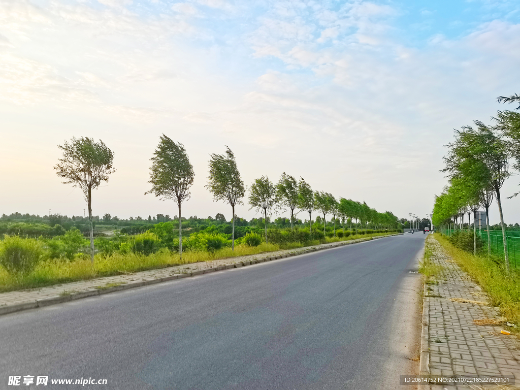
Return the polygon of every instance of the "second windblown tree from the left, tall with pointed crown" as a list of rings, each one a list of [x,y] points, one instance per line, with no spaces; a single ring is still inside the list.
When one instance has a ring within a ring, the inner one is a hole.
[[[183,258],[183,222],[181,219],[181,204],[190,199],[190,187],[193,185],[193,166],[188,159],[186,149],[180,142],[174,142],[164,134],[159,146],[150,159],[150,183],[152,189],[145,192],[153,193],[161,200],[171,199],[177,203],[179,210],[179,256]]]

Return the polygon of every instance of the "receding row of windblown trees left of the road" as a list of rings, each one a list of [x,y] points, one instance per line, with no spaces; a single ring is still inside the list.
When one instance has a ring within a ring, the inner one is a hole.
[[[57,175],[64,184],[80,187],[88,205],[90,230],[91,261],[94,262],[94,236],[92,225],[92,191],[103,181],[108,181],[109,175],[115,172],[113,167],[114,153],[102,142],[92,138],[73,138],[70,142],[59,146],[63,157],[55,166]],[[164,134],[151,158],[150,167],[151,193],[161,200],[173,200],[178,207],[179,218],[179,254],[182,256],[182,225],[181,205],[190,199],[190,188],[193,185],[194,172],[186,149],[180,142],[175,142]],[[210,154],[209,176],[206,188],[213,194],[215,201],[223,201],[232,209],[232,243],[235,248],[235,207],[243,204],[246,187],[237,167],[235,155],[227,147],[224,154]],[[277,184],[272,183],[267,176],[254,181],[250,187],[249,205],[251,209],[262,212],[265,222],[267,241],[268,216],[273,212],[285,209],[291,213],[291,230],[297,212],[309,214],[319,212],[323,215],[324,229],[326,216],[343,218],[343,228],[347,220],[356,220],[362,227],[371,225],[375,228],[396,228],[397,217],[391,212],[379,213],[366,203],[340,198],[337,201],[332,194],[313,191],[303,178],[297,181],[293,176],[283,173]],[[310,229],[312,227],[310,226]],[[335,234],[335,224],[334,224]]]

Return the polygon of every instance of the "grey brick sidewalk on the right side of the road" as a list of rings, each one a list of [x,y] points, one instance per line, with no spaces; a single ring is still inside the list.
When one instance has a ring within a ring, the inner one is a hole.
[[[476,326],[475,319],[499,318],[496,307],[453,302],[450,298],[487,302],[487,296],[471,278],[457,266],[430,235],[432,262],[444,267],[439,284],[425,285],[423,346],[421,367],[431,375],[514,375],[520,381],[520,351],[513,335],[503,335],[502,326]],[[431,290],[428,290],[431,288]],[[430,297],[427,297],[430,295]],[[427,336],[427,342],[425,344]],[[427,359],[427,361],[424,361]],[[516,382],[516,386],[520,382]],[[428,387],[426,387],[428,388]],[[472,385],[432,385],[437,389],[477,389]]]

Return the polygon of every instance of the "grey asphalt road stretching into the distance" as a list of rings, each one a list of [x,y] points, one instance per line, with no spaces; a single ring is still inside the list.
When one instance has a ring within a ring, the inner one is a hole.
[[[2,316],[0,388],[401,388],[423,246],[388,237]],[[50,384],[80,378],[108,384]]]

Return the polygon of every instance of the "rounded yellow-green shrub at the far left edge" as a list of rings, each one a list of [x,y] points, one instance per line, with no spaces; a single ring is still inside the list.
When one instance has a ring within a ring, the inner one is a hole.
[[[30,274],[43,255],[41,242],[33,238],[5,236],[0,242],[0,264],[11,273]]]

